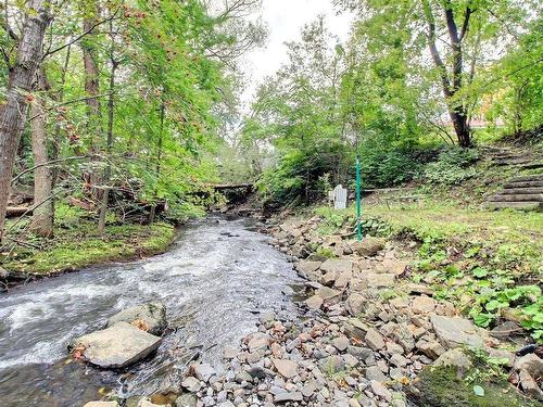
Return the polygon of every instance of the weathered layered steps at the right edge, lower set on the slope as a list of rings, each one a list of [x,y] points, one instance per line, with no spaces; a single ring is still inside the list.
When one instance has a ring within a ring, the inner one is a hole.
[[[543,174],[510,179],[502,191],[488,199],[487,207],[543,212]]]

